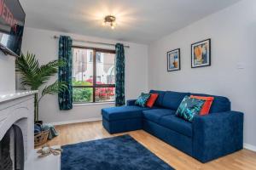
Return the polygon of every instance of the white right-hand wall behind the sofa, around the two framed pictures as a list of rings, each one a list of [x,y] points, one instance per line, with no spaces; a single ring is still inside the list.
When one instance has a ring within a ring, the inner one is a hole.
[[[212,66],[192,69],[190,44],[207,38],[212,38]],[[167,72],[166,52],[175,48],[181,48],[181,71]],[[151,43],[148,51],[148,88],[229,97],[232,110],[245,113],[244,142],[256,146],[255,0],[207,16]]]

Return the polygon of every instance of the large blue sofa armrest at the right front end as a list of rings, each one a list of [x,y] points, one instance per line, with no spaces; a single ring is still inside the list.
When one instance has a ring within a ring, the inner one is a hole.
[[[241,150],[243,145],[243,113],[227,111],[207,116],[195,116],[193,127],[193,156],[211,161]]]

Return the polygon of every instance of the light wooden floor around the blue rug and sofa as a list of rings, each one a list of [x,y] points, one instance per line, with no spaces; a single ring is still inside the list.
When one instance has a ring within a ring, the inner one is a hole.
[[[51,145],[74,144],[82,141],[103,139],[118,136],[125,133],[111,135],[103,127],[102,122],[83,122],[77,124],[62,125],[56,127],[60,133],[58,137],[48,142]],[[134,139],[151,150],[160,159],[166,161],[176,169],[255,169],[256,152],[241,150],[229,156],[224,156],[215,161],[202,164],[194,158],[162,142],[160,139],[146,133],[143,130],[129,132]]]

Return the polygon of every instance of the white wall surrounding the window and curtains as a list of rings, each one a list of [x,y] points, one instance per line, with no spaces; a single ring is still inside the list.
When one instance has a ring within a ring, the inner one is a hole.
[[[53,38],[55,35],[69,35],[74,39],[96,42],[118,42],[98,37],[85,37],[56,31],[26,28],[22,44],[23,53],[29,51],[30,53],[36,54],[41,64],[57,59],[58,40]],[[126,99],[135,99],[142,91],[148,90],[148,46],[132,42],[124,43],[131,47],[125,48],[125,95]],[[73,42],[73,44],[85,45],[87,47],[109,48],[92,44],[79,44],[78,42]],[[113,106],[113,104],[75,105],[71,111],[59,111],[57,97],[46,96],[39,105],[39,119],[44,122],[93,120],[100,118],[101,109],[109,106]]]

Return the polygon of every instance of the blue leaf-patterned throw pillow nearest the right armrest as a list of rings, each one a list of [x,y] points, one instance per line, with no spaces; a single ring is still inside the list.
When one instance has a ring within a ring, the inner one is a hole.
[[[176,116],[179,116],[186,121],[192,122],[194,116],[200,113],[201,107],[204,105],[204,103],[205,100],[185,96],[177,108]]]

